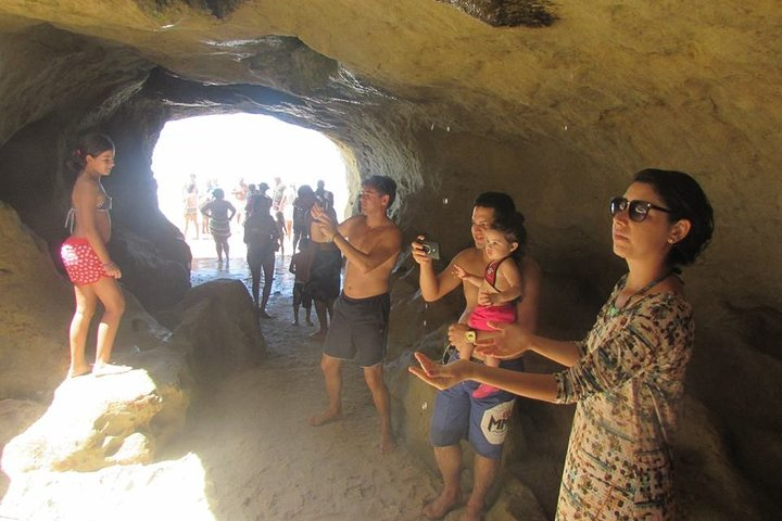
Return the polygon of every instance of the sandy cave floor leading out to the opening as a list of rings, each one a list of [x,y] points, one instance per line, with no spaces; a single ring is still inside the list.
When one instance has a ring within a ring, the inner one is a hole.
[[[239,238],[231,238],[229,268],[217,264],[211,239],[189,242],[193,284],[218,277],[249,283]],[[405,449],[404,440],[394,454],[379,454],[379,419],[358,366],[343,367],[344,418],[307,424],[326,406],[320,343],[307,338],[316,328],[306,326],[303,310],[302,325],[291,326],[289,262],[278,254],[267,307],[273,318],[261,323],[268,358],[201,396],[188,432],[160,456],[198,455],[217,519],[421,519],[421,506],[437,495],[440,480]]]

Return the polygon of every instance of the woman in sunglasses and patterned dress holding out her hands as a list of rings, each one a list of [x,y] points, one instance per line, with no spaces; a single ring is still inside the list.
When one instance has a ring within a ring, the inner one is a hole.
[[[493,325],[476,351],[502,359],[533,351],[566,369],[532,374],[417,353],[411,372],[438,389],[475,380],[520,396],[577,403],[556,518],[673,519],[671,435],[694,342],[679,267],[714,230],[711,206],[680,171],[646,169],[610,201],[614,253],[629,271],[585,339],[562,342]],[[491,326],[491,323],[490,323]]]

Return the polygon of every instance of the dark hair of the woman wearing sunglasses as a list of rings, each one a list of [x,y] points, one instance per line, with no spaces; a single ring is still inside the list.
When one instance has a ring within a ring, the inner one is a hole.
[[[670,266],[688,266],[703,253],[711,241],[714,211],[703,189],[695,179],[676,170],[647,168],[635,174],[635,182],[651,185],[660,196],[670,221],[688,219],[690,232],[673,244],[666,259]]]

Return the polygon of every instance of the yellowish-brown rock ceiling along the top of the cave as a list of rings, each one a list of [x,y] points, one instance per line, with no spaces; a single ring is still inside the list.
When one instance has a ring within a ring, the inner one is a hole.
[[[782,79],[773,1],[3,1],[0,17],[127,46],[189,80],[409,102],[453,130],[564,139],[664,107],[779,136],[772,114],[742,117],[779,116],[765,103]]]

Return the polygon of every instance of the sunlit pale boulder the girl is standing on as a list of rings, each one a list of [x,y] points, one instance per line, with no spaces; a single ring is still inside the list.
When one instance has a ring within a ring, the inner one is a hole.
[[[137,368],[65,380],[43,416],[5,445],[2,470],[14,479],[35,470],[151,462],[157,443],[184,425],[184,355],[161,348],[123,361]]]

